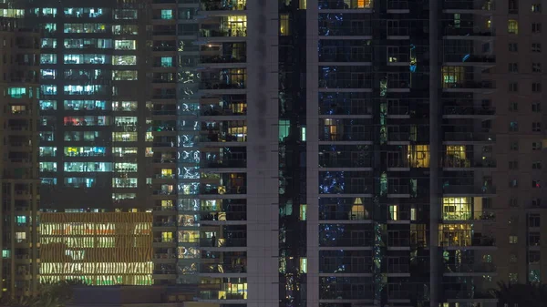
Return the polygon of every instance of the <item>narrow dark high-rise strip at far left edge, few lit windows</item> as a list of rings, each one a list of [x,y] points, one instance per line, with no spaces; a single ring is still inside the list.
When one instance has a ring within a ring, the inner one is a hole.
[[[0,299],[36,292],[39,38],[24,10],[0,10]]]

